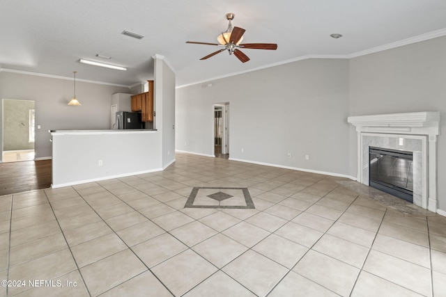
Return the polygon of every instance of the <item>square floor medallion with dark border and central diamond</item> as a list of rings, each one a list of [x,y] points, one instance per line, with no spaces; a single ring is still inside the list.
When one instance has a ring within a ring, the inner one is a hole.
[[[185,208],[255,209],[247,188],[196,186]]]

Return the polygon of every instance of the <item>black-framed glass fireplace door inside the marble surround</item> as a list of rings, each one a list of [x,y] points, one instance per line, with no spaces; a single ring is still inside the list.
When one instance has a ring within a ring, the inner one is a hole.
[[[413,202],[413,153],[370,147],[369,156],[370,186]]]

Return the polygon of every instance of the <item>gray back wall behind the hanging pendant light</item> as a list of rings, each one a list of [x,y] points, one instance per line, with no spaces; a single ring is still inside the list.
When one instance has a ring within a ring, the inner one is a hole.
[[[68,106],[73,95],[72,79],[0,72],[0,99],[33,100],[36,104],[36,127],[41,127],[36,129],[36,159],[52,156],[48,130],[109,129],[112,94],[128,92],[128,88],[77,80],[76,97],[82,106]]]

